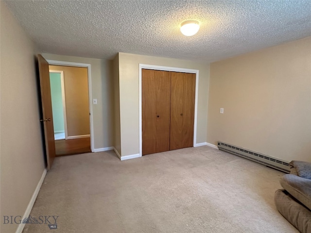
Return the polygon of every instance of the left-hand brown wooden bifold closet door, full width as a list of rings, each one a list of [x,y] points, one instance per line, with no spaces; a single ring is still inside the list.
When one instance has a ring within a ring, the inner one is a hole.
[[[170,150],[171,73],[141,70],[142,155]]]

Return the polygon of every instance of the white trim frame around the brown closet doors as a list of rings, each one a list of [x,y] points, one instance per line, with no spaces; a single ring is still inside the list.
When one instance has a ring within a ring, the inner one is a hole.
[[[193,146],[196,145],[196,126],[197,126],[197,112],[198,112],[198,90],[199,90],[199,70],[198,69],[185,69],[178,67],[163,67],[163,66],[154,66],[139,64],[139,79],[138,79],[138,88],[139,88],[139,157],[142,156],[142,115],[141,115],[141,69],[155,69],[155,70],[164,70],[164,71],[175,71],[182,73],[192,73],[195,74],[195,101],[194,101],[194,131],[193,131]]]

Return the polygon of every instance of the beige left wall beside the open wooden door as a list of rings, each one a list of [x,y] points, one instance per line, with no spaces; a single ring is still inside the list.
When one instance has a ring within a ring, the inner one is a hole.
[[[0,40],[0,216],[3,220],[3,216],[24,215],[45,164],[35,45],[3,1],[0,1]],[[17,230],[17,224],[2,224],[2,220],[0,232]]]

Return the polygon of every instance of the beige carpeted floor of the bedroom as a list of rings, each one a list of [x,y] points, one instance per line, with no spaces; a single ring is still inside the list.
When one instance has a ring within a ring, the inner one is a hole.
[[[113,151],[57,157],[31,212],[59,216],[57,230],[23,232],[297,233],[274,205],[283,174],[207,146],[125,161]]]

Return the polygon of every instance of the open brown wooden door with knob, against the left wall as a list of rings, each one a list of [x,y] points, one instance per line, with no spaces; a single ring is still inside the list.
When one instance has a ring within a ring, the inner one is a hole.
[[[40,119],[40,121],[42,121],[44,126],[43,128],[45,138],[45,149],[49,170],[51,169],[55,158],[50,72],[49,72],[49,63],[40,54],[38,54],[38,63],[39,63],[41,103],[43,113],[43,119]]]

